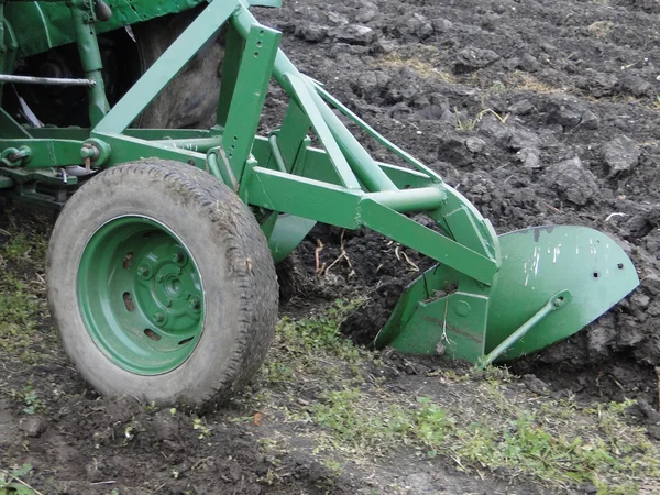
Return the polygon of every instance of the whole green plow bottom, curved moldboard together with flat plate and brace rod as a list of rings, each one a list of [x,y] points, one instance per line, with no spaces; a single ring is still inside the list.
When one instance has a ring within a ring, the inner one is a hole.
[[[566,339],[609,310],[639,278],[624,250],[584,227],[499,237],[492,287],[442,265],[404,292],[376,346],[487,364]]]

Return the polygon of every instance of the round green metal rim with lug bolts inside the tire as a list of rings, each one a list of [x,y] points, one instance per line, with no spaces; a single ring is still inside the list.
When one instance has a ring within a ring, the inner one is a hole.
[[[82,321],[117,365],[141,375],[180,366],[204,329],[204,287],[186,245],[145,217],[116,218],[89,239],[77,278]]]

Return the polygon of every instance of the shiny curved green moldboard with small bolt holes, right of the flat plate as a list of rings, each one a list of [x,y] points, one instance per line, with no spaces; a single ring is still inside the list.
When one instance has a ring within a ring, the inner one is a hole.
[[[502,267],[491,293],[485,352],[561,290],[571,300],[549,312],[499,358],[512,360],[571,337],[639,285],[632,262],[602,232],[537,227],[499,237]]]

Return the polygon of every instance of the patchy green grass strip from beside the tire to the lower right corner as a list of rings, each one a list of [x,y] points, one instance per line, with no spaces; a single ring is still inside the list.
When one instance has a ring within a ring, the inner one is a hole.
[[[284,385],[290,397],[310,384],[320,389],[300,407],[280,403],[279,410],[286,422],[310,429],[315,452],[332,465],[338,454],[360,463],[410,449],[419,458],[441,457],[459,471],[492,471],[559,491],[592,484],[602,495],[637,493],[641,482],[660,475],[660,452],[627,417],[631,402],[587,407],[530,398],[515,376],[497,367],[474,380],[435,372],[460,400],[381,388],[381,381],[364,378],[381,358],[339,334],[355,306],[283,320],[263,373],[267,386]]]

